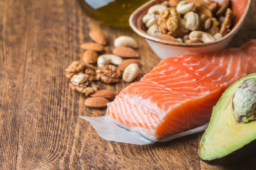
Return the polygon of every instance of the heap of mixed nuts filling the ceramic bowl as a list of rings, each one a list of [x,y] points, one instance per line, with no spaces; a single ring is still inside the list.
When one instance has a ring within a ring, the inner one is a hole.
[[[208,43],[232,28],[230,0],[169,0],[151,6],[142,18],[147,33],[177,43]]]

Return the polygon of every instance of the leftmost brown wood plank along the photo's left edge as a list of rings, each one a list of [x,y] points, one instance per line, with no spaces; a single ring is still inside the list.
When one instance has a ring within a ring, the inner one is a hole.
[[[0,169],[15,169],[26,63],[24,8],[0,1]]]

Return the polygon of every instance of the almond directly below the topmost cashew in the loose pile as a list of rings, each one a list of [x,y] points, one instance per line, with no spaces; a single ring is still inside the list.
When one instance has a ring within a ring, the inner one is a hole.
[[[116,47],[112,52],[120,57],[139,57],[139,54],[135,50],[126,46]]]

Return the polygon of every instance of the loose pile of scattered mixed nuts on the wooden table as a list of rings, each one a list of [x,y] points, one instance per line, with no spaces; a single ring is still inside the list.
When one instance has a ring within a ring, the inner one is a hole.
[[[80,61],[72,62],[65,69],[65,76],[70,79],[69,86],[72,90],[81,92],[85,96],[91,96],[84,104],[92,108],[104,108],[109,101],[115,99],[116,92],[111,90],[99,90],[99,85],[93,81],[104,83],[118,83],[120,78],[131,82],[140,74],[140,60],[135,58],[138,43],[129,36],[120,36],[115,39],[113,54],[102,54],[107,40],[100,31],[90,31],[90,38],[95,41],[81,44],[85,50]],[[126,60],[123,60],[122,57]],[[94,64],[94,65],[93,65]],[[97,64],[97,66],[95,66]]]

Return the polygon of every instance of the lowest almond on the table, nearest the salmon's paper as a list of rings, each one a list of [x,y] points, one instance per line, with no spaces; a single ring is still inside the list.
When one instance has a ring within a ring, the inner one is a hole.
[[[90,97],[84,101],[85,106],[90,108],[104,108],[109,101],[103,97]]]

